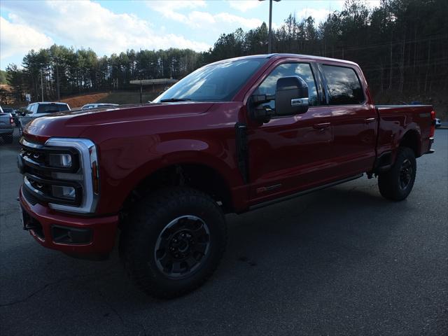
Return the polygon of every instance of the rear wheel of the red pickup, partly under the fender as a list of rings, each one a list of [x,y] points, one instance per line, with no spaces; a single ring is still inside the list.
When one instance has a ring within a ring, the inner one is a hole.
[[[398,148],[391,169],[378,176],[379,193],[388,200],[401,201],[411,193],[416,174],[416,160],[411,148]]]

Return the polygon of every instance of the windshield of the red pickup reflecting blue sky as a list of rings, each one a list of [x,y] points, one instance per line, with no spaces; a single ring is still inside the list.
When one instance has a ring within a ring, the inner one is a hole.
[[[229,102],[265,58],[239,59],[203,66],[160,94],[153,102],[193,100]]]

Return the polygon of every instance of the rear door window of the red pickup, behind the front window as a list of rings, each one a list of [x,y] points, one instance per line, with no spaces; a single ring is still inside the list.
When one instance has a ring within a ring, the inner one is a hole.
[[[353,69],[323,65],[322,71],[327,80],[330,105],[351,105],[364,102],[363,87]]]

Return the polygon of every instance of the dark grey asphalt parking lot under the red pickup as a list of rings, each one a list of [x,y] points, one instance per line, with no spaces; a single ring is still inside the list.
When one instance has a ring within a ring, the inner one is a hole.
[[[76,260],[23,231],[17,141],[0,144],[0,333],[447,335],[448,130],[433,148],[404,202],[363,177],[228,216],[214,276],[160,301],[134,288],[117,251]]]

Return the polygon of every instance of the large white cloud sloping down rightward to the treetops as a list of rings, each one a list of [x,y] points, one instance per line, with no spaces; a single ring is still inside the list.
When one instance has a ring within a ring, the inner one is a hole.
[[[182,3],[179,5],[190,6]],[[66,41],[66,44],[75,48],[92,48],[99,54],[121,52],[131,48],[157,50],[173,47],[202,51],[210,47],[207,43],[191,41],[180,35],[158,34],[150,22],[141,20],[137,15],[113,13],[100,3],[91,1],[30,1],[27,6],[23,6],[23,3],[16,5],[15,2],[8,2],[6,7],[11,13],[15,13],[10,17],[11,24],[25,27],[28,31],[44,32],[54,39]],[[3,27],[1,30],[3,40]],[[33,39],[45,41],[42,37]],[[41,43],[41,46],[46,45],[48,43]],[[30,48],[31,45],[28,45],[26,50]],[[6,52],[13,50],[6,48]]]

